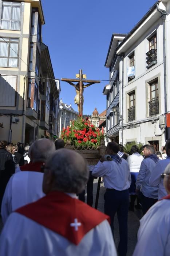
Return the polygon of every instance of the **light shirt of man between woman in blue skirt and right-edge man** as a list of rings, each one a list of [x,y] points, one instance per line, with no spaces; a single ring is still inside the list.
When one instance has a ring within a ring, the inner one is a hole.
[[[141,189],[144,196],[155,199],[158,198],[158,185],[151,187],[149,179],[156,165],[157,163],[155,163],[151,158],[143,159],[136,182],[136,188],[138,190]]]

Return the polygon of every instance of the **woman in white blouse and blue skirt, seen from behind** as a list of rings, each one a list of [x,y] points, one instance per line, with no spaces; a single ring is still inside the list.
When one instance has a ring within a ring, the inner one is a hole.
[[[136,145],[131,147],[130,153],[131,154],[127,158],[127,162],[130,168],[131,180],[132,180],[129,188],[129,195],[130,195],[129,210],[134,211],[135,199],[137,197],[135,194],[135,190],[136,190],[135,183],[137,181],[137,176],[141,167],[141,163],[143,161],[143,157],[142,155],[139,154],[139,148]],[[141,209],[138,198],[137,198],[137,205],[135,206],[135,208]]]

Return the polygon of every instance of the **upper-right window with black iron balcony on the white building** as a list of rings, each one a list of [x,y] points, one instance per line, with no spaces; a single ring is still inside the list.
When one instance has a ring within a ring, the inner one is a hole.
[[[149,41],[149,52],[146,53],[147,68],[157,64],[157,34],[148,38]]]

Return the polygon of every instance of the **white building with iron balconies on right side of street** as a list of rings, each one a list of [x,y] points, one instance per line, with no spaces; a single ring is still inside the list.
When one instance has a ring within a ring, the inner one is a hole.
[[[122,144],[137,140],[161,150],[170,137],[166,125],[170,112],[170,79],[166,76],[170,69],[168,13],[170,0],[162,0],[153,5],[129,34],[122,36],[123,40],[118,40],[118,34],[112,35],[105,66],[110,68],[112,76],[119,70],[119,100],[114,98],[113,102],[109,98],[115,77],[103,94],[107,95],[107,133],[112,129],[116,135],[116,128]],[[116,110],[113,106],[118,106],[116,115],[110,112]],[[119,120],[117,126],[110,124],[110,113]]]

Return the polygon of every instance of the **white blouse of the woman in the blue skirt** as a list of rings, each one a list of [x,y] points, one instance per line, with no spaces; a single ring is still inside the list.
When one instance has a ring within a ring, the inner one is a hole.
[[[144,158],[142,157],[142,155],[129,155],[129,157],[127,158],[127,162],[129,164],[130,172],[138,173],[143,159]]]

